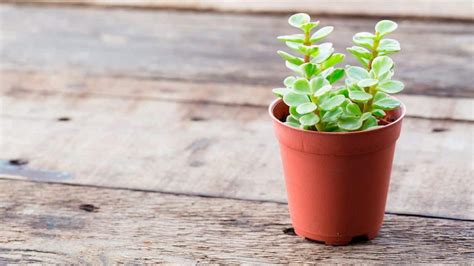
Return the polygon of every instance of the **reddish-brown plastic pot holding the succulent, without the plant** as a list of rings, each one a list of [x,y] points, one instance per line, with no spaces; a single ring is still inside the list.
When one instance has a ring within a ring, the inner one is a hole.
[[[328,245],[373,239],[382,226],[395,143],[405,107],[389,113],[383,128],[330,133],[285,125],[288,106],[269,108],[285,173],[297,235]]]

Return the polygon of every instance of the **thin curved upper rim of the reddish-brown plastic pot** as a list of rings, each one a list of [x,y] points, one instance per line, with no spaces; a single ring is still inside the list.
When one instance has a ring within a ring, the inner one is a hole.
[[[393,96],[390,96],[392,98],[395,98],[397,99],[396,97],[393,97]],[[398,99],[397,99],[398,100]],[[400,101],[400,100],[398,100]],[[400,116],[397,118],[397,120],[393,121],[392,123],[388,124],[388,125],[385,125],[381,128],[377,128],[377,129],[372,129],[372,130],[363,130],[363,131],[353,131],[353,132],[325,132],[325,131],[313,131],[313,130],[305,130],[305,129],[301,129],[301,128],[296,128],[296,127],[292,127],[292,126],[288,126],[286,125],[285,123],[281,122],[278,118],[275,117],[275,115],[273,114],[273,110],[275,109],[275,106],[277,106],[277,104],[279,104],[280,102],[283,102],[283,99],[281,98],[277,98],[275,100],[273,100],[272,103],[270,103],[270,106],[268,107],[268,112],[270,114],[270,117],[273,119],[273,121],[279,123],[280,125],[286,127],[286,128],[289,128],[291,130],[295,130],[295,131],[299,131],[299,132],[304,132],[304,133],[308,133],[308,134],[316,134],[316,135],[332,135],[332,136],[340,136],[340,135],[356,135],[356,134],[366,134],[368,132],[377,132],[377,131],[380,131],[380,130],[386,130],[392,126],[394,126],[395,124],[398,124],[400,121],[402,121],[402,119],[405,117],[405,114],[406,114],[406,107],[405,107],[405,104],[403,104],[403,102],[400,101],[400,107],[401,108],[401,111],[402,113],[400,114]]]

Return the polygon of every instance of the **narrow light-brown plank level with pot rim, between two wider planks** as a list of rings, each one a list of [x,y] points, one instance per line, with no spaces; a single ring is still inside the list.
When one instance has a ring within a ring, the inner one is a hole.
[[[87,76],[81,72],[0,71],[0,92],[61,91],[68,94],[100,94],[150,100],[209,102],[223,105],[266,107],[274,99],[270,87],[248,84],[187,82],[133,78],[127,76]],[[251,97],[250,97],[251,95]],[[397,95],[407,106],[407,115],[427,119],[474,121],[473,98]]]

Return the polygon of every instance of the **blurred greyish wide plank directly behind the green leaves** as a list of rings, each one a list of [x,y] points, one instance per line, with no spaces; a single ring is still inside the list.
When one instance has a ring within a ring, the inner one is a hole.
[[[279,86],[289,71],[276,36],[286,15],[243,15],[71,7],[0,6],[1,69],[81,70],[191,82]],[[324,17],[338,51],[376,19]],[[81,23],[77,23],[81,21]],[[406,93],[474,97],[474,27],[399,19],[394,56]],[[355,63],[352,58],[347,63]],[[447,74],[449,73],[449,74]]]

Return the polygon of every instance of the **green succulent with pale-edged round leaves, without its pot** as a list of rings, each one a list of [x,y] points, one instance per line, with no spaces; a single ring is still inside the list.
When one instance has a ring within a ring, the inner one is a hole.
[[[332,26],[312,33],[319,21],[312,22],[304,13],[292,15],[288,22],[302,33],[278,37],[300,54],[278,51],[295,73],[284,79],[284,88],[273,89],[289,106],[285,123],[326,132],[370,130],[383,125],[386,111],[400,106],[390,94],[404,87],[402,82],[392,80],[394,63],[388,57],[400,51],[398,41],[386,38],[397,29],[397,24],[382,20],[375,25],[375,33],[355,34],[355,46],[347,51],[361,66],[336,68],[344,54],[335,53],[332,43],[321,42],[333,31]],[[337,86],[344,77],[343,84]]]

